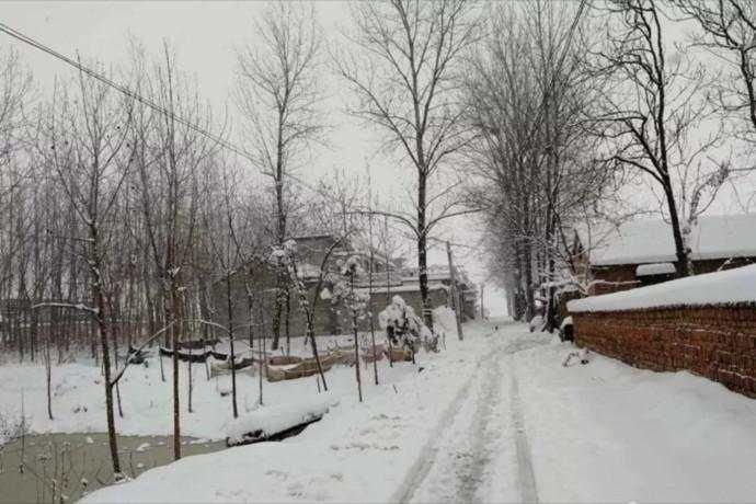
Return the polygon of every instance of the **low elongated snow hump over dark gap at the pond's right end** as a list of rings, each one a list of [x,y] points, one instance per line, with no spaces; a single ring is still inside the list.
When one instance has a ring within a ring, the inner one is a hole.
[[[297,402],[262,406],[226,424],[224,428],[226,439],[231,445],[251,439],[264,439],[297,425],[318,420],[336,404],[339,400],[327,392]]]

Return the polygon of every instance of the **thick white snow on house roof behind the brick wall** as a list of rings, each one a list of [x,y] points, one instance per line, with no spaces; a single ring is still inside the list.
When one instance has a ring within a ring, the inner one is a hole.
[[[669,224],[663,220],[632,220],[594,231],[591,265],[664,263],[676,261]],[[756,214],[699,217],[692,229],[694,260],[756,256]]]

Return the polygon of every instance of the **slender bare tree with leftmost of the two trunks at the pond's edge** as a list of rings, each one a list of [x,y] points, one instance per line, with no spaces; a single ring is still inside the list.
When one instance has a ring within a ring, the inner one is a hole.
[[[45,142],[41,146],[57,174],[64,194],[76,210],[84,230],[83,237],[61,237],[70,247],[82,250],[89,266],[90,296],[93,306],[75,308],[89,313],[95,321],[104,370],[107,435],[116,479],[122,478],[113,411],[111,341],[113,328],[108,319],[107,298],[113,279],[110,277],[110,240],[116,195],[129,167],[127,138],[133,103],[105,84],[85,77],[78,79],[76,100],[64,92],[43,124]],[[64,305],[65,306],[65,305]]]

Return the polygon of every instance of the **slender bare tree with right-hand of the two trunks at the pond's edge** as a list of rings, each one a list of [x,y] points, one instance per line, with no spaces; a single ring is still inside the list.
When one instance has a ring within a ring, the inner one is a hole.
[[[144,56],[135,55],[135,72]],[[181,457],[179,398],[179,343],[182,340],[184,297],[192,250],[195,245],[198,185],[197,171],[211,153],[206,137],[187,124],[209,125],[209,110],[201,105],[196,88],[175,68],[168,45],[162,61],[156,61],[138,83],[165,111],[139,116],[134,128],[140,210],[146,247],[162,294],[164,324],[170,327],[173,350],[173,454]],[[181,117],[183,121],[176,121]],[[203,118],[201,121],[201,117]]]

